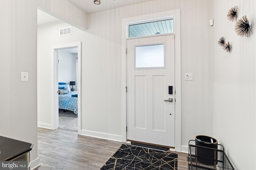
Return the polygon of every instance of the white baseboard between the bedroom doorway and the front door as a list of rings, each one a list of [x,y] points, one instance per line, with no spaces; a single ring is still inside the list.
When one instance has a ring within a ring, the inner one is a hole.
[[[109,133],[81,130],[81,135],[97,137],[97,138],[101,138],[101,139],[108,139],[111,141],[120,141],[120,142],[122,141],[121,135],[113,135],[113,134],[109,134]]]

